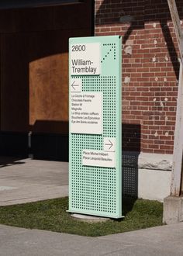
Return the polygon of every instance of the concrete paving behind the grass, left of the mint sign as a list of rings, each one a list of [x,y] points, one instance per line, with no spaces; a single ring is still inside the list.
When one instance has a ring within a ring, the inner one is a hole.
[[[0,157],[0,206],[68,195],[68,163]]]

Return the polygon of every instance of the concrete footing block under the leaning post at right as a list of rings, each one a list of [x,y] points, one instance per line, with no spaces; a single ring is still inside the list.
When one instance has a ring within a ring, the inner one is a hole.
[[[164,199],[164,218],[166,224],[183,221],[183,197],[167,196]]]

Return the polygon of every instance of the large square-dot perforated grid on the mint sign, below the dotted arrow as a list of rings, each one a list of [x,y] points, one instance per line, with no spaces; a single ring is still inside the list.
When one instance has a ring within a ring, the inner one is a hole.
[[[103,137],[116,137],[116,77],[80,77],[83,92],[103,92],[103,134],[71,134],[72,146],[72,207],[116,212],[115,168],[82,166],[84,149],[102,150]],[[110,101],[110,108],[109,108]],[[77,147],[75,147],[77,145]]]

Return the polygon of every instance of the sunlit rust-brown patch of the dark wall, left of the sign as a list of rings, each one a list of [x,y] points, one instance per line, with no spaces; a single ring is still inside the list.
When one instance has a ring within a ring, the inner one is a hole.
[[[29,64],[29,124],[68,121],[67,53]],[[51,129],[51,127],[50,127]]]

